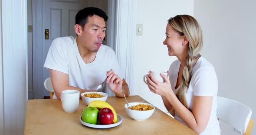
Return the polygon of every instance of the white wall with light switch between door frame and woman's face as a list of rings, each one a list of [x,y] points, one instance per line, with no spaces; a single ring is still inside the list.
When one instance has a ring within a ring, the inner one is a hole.
[[[167,20],[177,14],[193,15],[193,7],[194,0],[137,1],[136,23],[143,24],[143,35],[135,39],[133,95],[141,96],[164,112],[167,110],[161,96],[152,93],[142,77],[149,70],[169,70],[177,58],[169,57],[167,47],[163,45]]]

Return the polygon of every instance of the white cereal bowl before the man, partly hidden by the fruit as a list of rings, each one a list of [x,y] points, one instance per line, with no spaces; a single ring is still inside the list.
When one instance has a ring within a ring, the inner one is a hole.
[[[88,96],[93,96],[93,97],[87,97],[84,96],[85,94],[87,94]],[[100,94],[103,97],[95,97],[95,94]],[[85,92],[81,94],[82,100],[85,102],[86,105],[89,105],[89,103],[91,103],[94,100],[101,100],[101,101],[106,101],[108,98],[108,94],[107,93],[103,93],[103,92],[96,92],[96,91],[92,91],[92,92]]]

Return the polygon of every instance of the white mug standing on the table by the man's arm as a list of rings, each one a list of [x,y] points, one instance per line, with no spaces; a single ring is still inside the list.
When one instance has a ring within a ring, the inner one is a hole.
[[[79,106],[80,92],[78,90],[63,90],[60,95],[62,108],[67,113],[74,113]]]

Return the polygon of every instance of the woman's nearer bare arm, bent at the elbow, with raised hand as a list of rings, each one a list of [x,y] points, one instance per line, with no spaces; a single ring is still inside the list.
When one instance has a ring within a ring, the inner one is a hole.
[[[168,78],[163,74],[161,76],[164,78],[164,83],[160,83],[149,73],[149,76],[147,76],[149,89],[153,93],[164,96],[190,129],[197,133],[203,132],[210,118],[213,96],[194,96],[193,111],[190,112],[174,94]],[[165,105],[171,108],[167,102],[165,102]]]

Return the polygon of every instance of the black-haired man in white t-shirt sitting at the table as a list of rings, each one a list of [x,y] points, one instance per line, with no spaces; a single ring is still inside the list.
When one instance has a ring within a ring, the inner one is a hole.
[[[63,90],[96,91],[106,77],[115,96],[130,94],[115,52],[102,45],[107,20],[108,16],[101,9],[84,8],[75,16],[77,38],[69,36],[53,40],[44,67],[49,69],[58,99]]]

